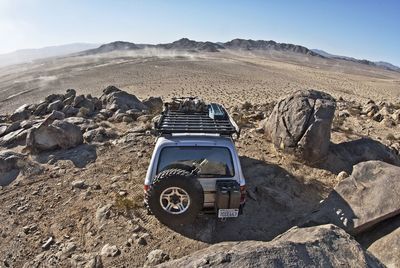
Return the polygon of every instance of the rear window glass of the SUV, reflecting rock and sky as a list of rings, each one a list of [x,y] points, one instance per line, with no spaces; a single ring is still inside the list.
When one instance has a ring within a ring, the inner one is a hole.
[[[231,153],[224,147],[166,147],[161,151],[157,174],[171,168],[195,172],[200,177],[234,176]]]

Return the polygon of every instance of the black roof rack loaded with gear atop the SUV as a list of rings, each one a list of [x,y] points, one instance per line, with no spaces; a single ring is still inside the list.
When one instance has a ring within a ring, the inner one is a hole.
[[[225,108],[217,103],[205,104],[194,97],[175,98],[166,103],[155,130],[159,135],[175,133],[219,134],[239,138],[240,129]]]

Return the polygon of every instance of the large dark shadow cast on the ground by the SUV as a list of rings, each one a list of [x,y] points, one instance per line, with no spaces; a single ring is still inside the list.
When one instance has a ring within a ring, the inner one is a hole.
[[[297,225],[321,200],[318,186],[306,185],[278,165],[241,157],[247,183],[247,202],[238,218],[220,221],[215,214],[199,216],[194,224],[169,226],[207,243],[271,240]]]

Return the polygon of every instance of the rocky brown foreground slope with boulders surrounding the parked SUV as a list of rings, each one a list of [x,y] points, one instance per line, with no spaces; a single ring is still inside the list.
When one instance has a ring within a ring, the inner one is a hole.
[[[162,106],[109,86],[1,115],[0,265],[400,265],[400,136],[389,135],[398,104],[300,90],[227,107],[242,127],[244,214],[188,226],[164,226],[143,207]],[[376,139],[363,134],[372,128]]]

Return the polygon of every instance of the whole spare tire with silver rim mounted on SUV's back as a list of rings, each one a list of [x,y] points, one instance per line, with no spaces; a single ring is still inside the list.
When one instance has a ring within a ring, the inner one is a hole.
[[[203,208],[203,187],[190,172],[168,169],[160,172],[146,194],[149,211],[166,225],[191,223]]]

